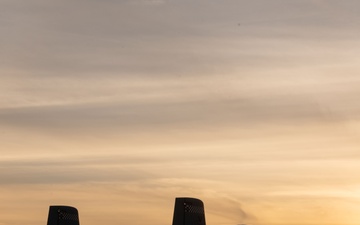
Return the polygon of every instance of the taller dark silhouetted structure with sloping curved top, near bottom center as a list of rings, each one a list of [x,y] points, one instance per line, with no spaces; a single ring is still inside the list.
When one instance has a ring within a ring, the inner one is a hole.
[[[172,225],[206,225],[203,202],[196,198],[176,198]]]

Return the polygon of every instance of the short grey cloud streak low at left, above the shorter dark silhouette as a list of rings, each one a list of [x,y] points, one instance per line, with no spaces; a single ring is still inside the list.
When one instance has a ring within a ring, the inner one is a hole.
[[[73,156],[69,156],[73,157]],[[0,185],[66,184],[84,182],[133,182],[153,179],[151,173],[129,166],[130,162],[109,165],[109,162],[89,163],[54,159],[0,162]]]

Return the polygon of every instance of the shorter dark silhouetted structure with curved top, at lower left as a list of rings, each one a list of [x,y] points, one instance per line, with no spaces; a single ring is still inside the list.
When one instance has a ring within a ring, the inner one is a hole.
[[[47,225],[80,225],[79,213],[71,206],[50,206]]]

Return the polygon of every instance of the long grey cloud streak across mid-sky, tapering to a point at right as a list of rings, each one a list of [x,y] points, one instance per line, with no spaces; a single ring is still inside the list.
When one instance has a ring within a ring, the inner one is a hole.
[[[165,104],[70,105],[4,109],[0,112],[0,123],[46,129],[98,129],[98,127],[142,129],[177,124],[277,123],[294,119],[318,120],[327,117],[329,115],[324,114],[317,105],[312,105],[311,102],[285,98],[282,101],[239,99],[222,102],[190,101]]]

